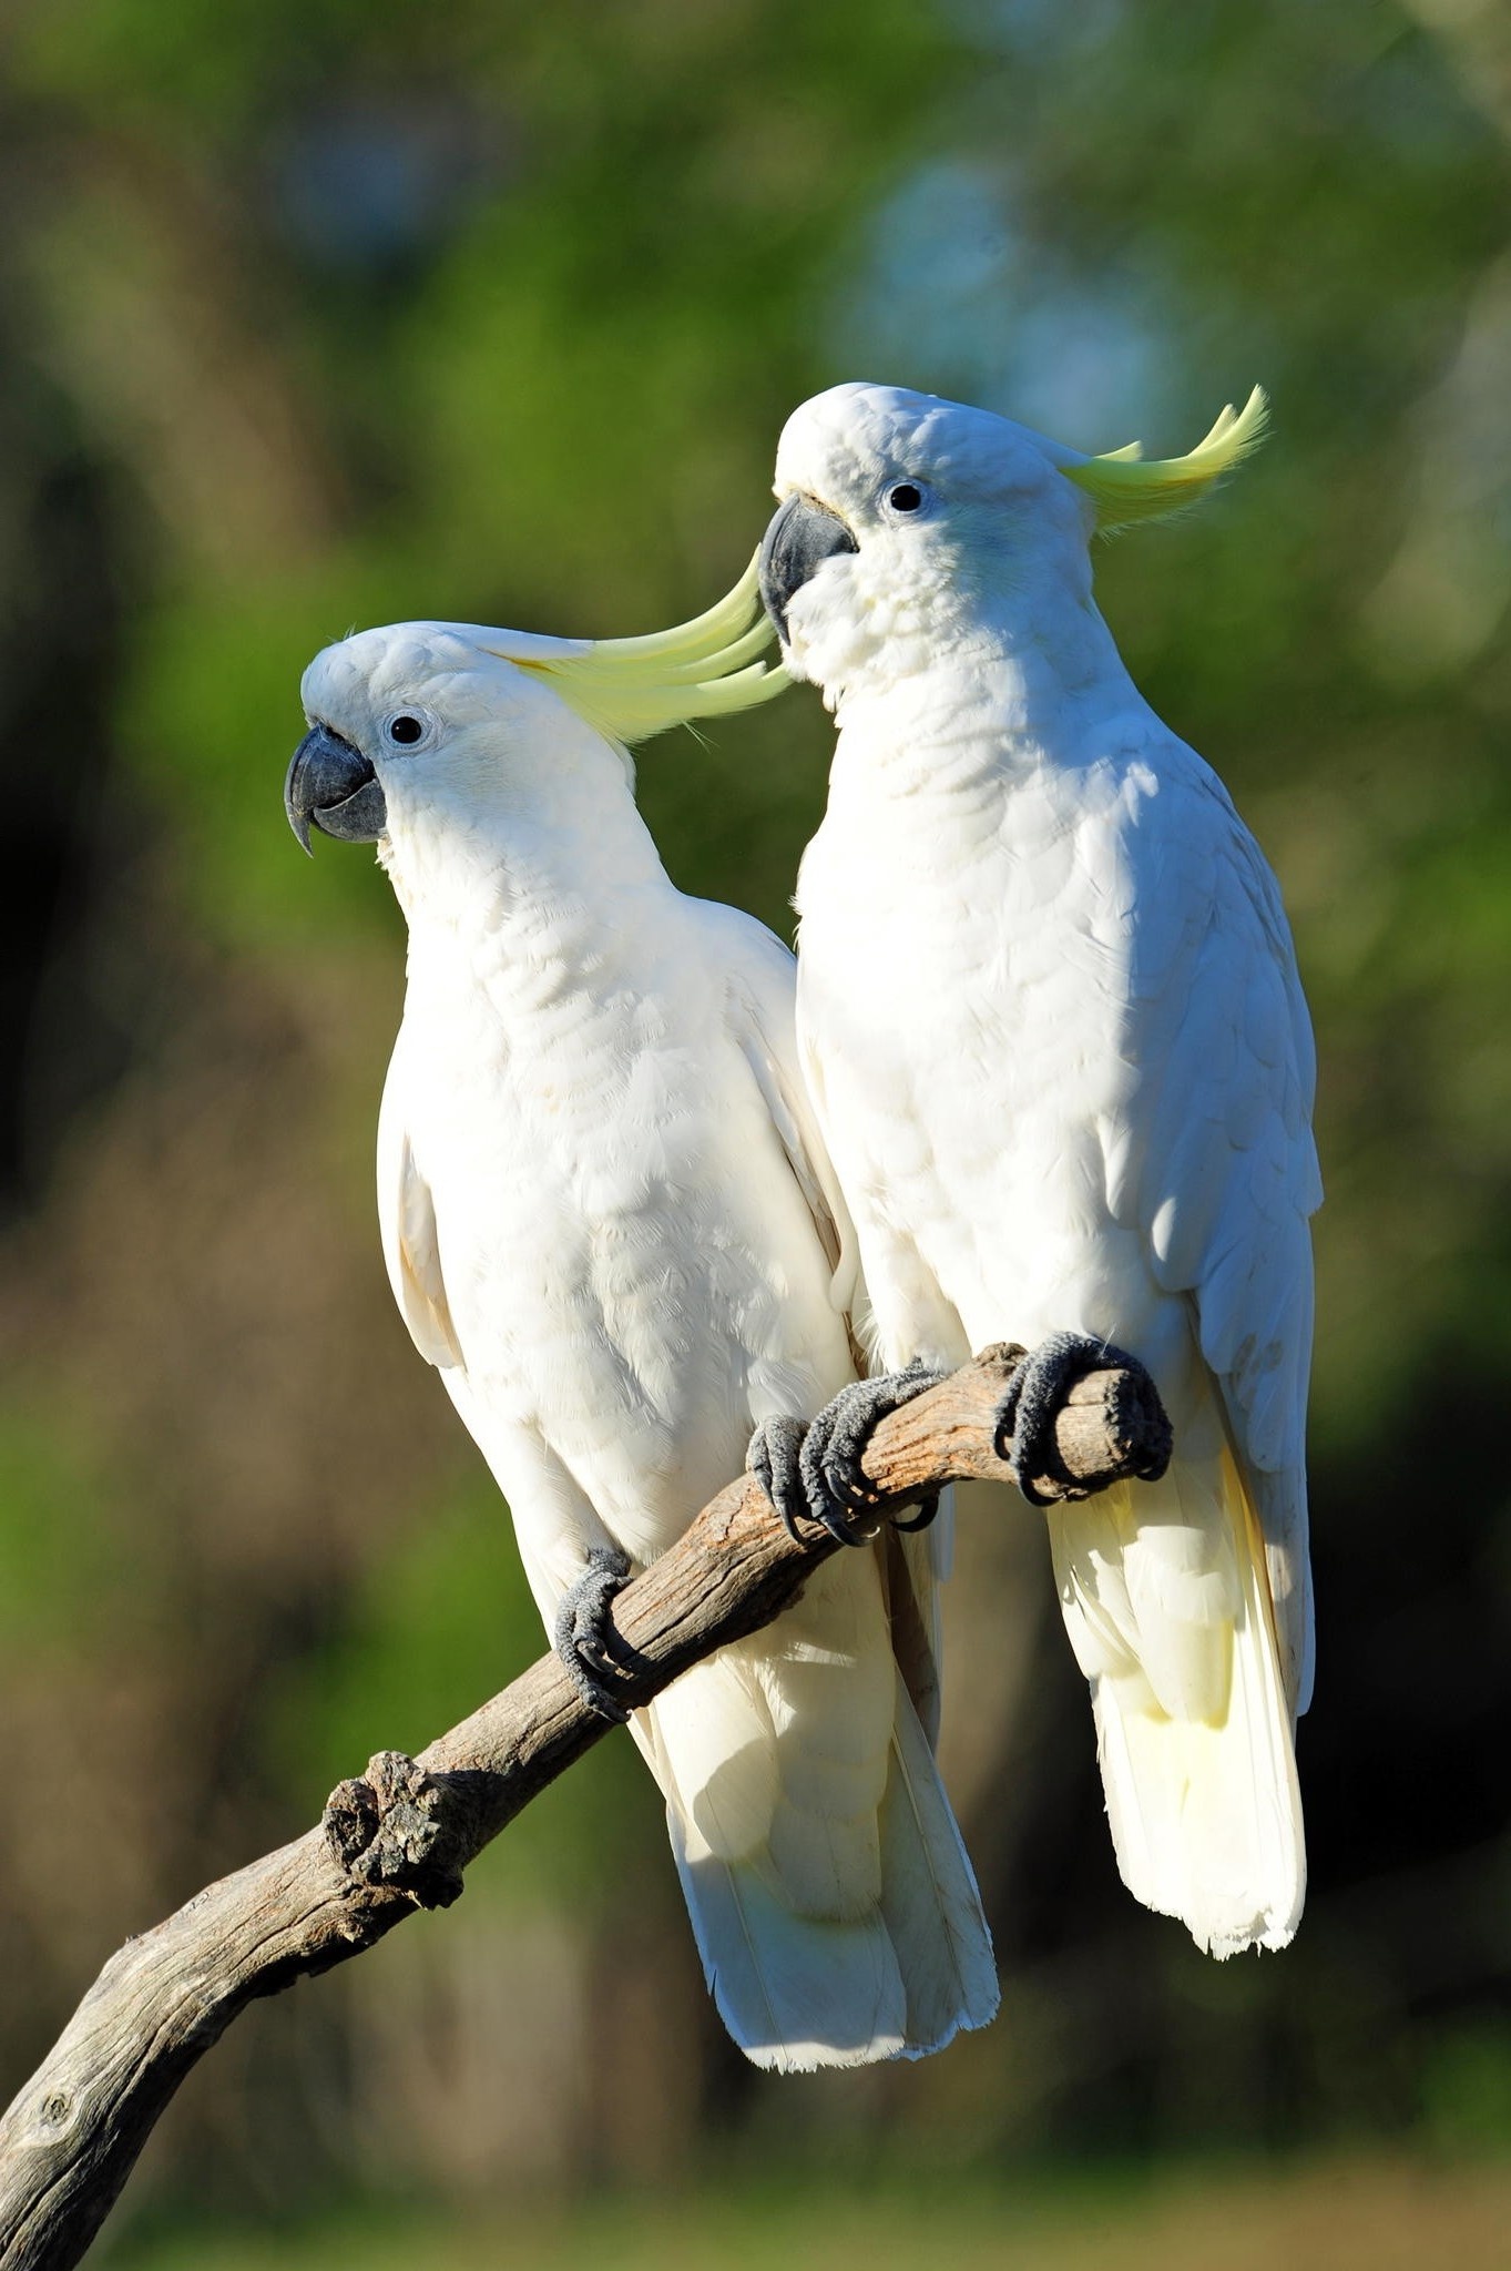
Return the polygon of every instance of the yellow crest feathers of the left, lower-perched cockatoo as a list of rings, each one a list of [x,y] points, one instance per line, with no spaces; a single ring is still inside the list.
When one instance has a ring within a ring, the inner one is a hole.
[[[760,604],[758,559],[692,622],[642,638],[594,638],[576,654],[520,661],[608,740],[647,740],[694,718],[726,718],[780,695],[792,679],[756,656],[776,631]]]

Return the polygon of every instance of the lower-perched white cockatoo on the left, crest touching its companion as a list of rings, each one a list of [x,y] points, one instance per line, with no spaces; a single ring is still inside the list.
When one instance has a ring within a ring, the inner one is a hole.
[[[379,845],[408,920],[388,1276],[510,1503],[547,1631],[619,1719],[613,1592],[740,1472],[753,1426],[853,1378],[792,956],[672,888],[626,754],[785,684],[751,661],[769,636],[753,570],[644,640],[363,631],[304,677],[286,788],[306,849],[311,822]],[[760,2067],[919,2055],[996,2010],[921,1724],[919,1547],[826,1562],[633,1717],[710,1989]]]

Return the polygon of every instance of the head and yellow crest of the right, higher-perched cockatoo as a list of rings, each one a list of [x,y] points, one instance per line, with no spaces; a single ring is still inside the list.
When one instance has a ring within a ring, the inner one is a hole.
[[[1066,450],[991,411],[849,384],[787,420],[758,561],[783,661],[826,693],[903,677],[982,609],[1084,604],[1089,540],[1196,502],[1264,431],[1264,393],[1187,456]]]

